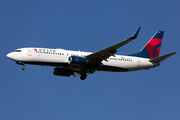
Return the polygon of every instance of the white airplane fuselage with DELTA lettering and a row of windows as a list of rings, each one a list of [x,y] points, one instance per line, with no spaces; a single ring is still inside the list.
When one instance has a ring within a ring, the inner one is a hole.
[[[13,61],[24,62],[25,64],[47,65],[55,67],[73,67],[73,69],[81,69],[78,66],[72,66],[68,63],[70,56],[86,57],[91,52],[71,51],[64,49],[49,48],[21,48],[7,55]],[[103,60],[102,65],[97,70],[102,71],[135,71],[141,69],[149,69],[157,66],[149,61],[150,59],[115,55]]]

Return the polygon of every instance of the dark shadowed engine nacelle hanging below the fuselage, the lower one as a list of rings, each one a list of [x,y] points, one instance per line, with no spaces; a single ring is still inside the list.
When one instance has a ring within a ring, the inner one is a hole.
[[[54,75],[64,76],[64,77],[69,77],[73,74],[73,72],[70,69],[66,69],[66,68],[54,68],[53,73]]]

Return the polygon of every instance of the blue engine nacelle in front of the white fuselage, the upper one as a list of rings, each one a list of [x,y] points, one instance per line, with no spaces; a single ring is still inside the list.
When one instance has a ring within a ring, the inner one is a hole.
[[[84,57],[70,56],[68,59],[69,64],[86,64],[87,60]]]

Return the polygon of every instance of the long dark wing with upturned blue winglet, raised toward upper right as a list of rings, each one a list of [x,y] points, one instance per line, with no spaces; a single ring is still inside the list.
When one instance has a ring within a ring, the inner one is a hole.
[[[98,66],[99,64],[101,64],[102,60],[107,61],[107,58],[109,58],[110,56],[114,56],[118,48],[134,40],[138,36],[139,30],[140,30],[140,27],[135,31],[135,33],[130,38],[124,41],[121,41],[117,44],[114,44],[110,47],[107,47],[105,49],[102,49],[100,51],[97,51],[95,53],[92,53],[86,56],[86,59],[88,59],[89,61],[93,62],[94,64]]]

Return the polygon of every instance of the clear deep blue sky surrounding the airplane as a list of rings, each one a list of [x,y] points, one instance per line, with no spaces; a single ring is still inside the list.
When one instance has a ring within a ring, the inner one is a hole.
[[[130,37],[117,54],[138,52],[165,31],[160,55],[180,51],[177,0],[6,0],[0,2],[2,120],[179,120],[179,53],[136,72],[95,72],[85,81],[57,77],[53,67],[20,65],[6,54],[22,47],[95,52]]]

